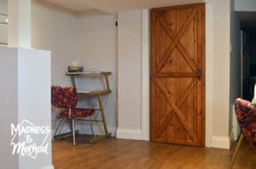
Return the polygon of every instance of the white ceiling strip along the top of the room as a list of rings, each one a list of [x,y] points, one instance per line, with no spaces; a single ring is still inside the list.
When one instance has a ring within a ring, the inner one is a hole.
[[[110,14],[143,8],[158,8],[191,3],[205,3],[206,0],[43,0],[74,12],[99,9]]]

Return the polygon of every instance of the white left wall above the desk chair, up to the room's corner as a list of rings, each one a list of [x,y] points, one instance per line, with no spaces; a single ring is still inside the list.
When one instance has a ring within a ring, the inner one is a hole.
[[[70,85],[67,65],[78,59],[77,19],[74,14],[32,0],[32,48],[51,51],[52,84]]]

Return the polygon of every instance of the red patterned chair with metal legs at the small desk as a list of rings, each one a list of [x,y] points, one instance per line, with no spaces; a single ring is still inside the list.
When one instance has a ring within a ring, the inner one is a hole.
[[[51,103],[56,108],[61,108],[60,113],[60,121],[56,127],[55,134],[58,132],[59,127],[61,125],[61,121],[64,118],[68,118],[72,120],[72,130],[73,130],[73,144],[76,145],[75,142],[75,120],[90,117],[95,114],[94,109],[79,109],[76,108],[78,103],[78,93],[75,87],[51,87]],[[90,121],[90,129],[93,134],[93,128]]]

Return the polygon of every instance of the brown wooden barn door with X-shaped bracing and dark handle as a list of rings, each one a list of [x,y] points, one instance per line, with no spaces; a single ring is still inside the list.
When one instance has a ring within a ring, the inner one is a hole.
[[[150,137],[205,144],[205,5],[151,10]]]

